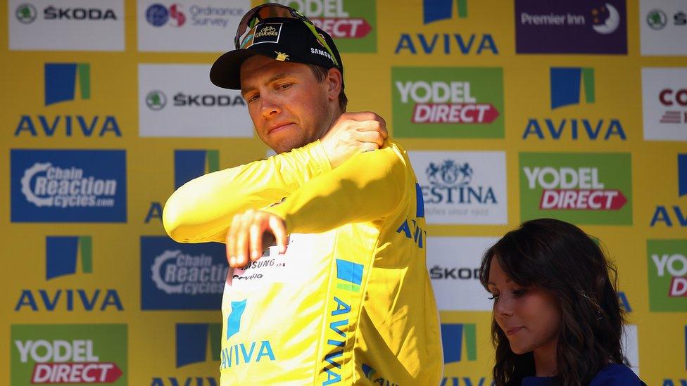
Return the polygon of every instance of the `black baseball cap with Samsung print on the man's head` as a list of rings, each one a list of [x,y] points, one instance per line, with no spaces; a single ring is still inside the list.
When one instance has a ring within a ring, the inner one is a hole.
[[[251,11],[248,11],[249,13]],[[295,10],[294,10],[295,12]],[[304,17],[303,17],[304,18]],[[240,28],[240,27],[239,27]],[[313,28],[324,38],[334,53],[320,42]],[[265,18],[259,20],[240,42],[240,47],[220,56],[210,69],[210,81],[224,89],[241,89],[240,70],[244,60],[260,54],[274,60],[337,68],[343,75],[341,55],[332,37],[320,28],[298,18]]]

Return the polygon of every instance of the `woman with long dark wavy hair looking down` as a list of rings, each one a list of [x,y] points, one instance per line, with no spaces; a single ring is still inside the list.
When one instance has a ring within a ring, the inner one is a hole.
[[[565,221],[527,221],[489,248],[479,279],[494,301],[496,385],[642,385],[623,355],[616,275]]]

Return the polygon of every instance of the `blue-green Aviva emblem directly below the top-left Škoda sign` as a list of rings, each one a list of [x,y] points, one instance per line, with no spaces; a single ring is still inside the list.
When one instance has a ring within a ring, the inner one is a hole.
[[[45,64],[46,106],[73,101],[77,88],[82,100],[91,98],[91,65],[88,63]]]

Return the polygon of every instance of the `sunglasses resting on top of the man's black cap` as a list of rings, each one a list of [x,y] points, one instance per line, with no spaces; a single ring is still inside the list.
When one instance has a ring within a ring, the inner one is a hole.
[[[234,37],[234,45],[236,46],[236,49],[241,49],[242,46],[246,45],[251,39],[250,32],[253,27],[255,27],[258,22],[268,18],[291,18],[301,20],[301,22],[308,27],[308,30],[313,32],[313,35],[315,35],[317,41],[319,41],[320,44],[327,49],[329,55],[332,56],[332,60],[334,60],[334,65],[336,65],[336,67],[341,67],[341,65],[339,65],[339,61],[336,60],[336,56],[334,56],[334,52],[329,48],[327,41],[324,40],[324,37],[322,37],[321,34],[317,33],[317,30],[315,30],[315,25],[313,22],[306,18],[303,13],[296,11],[294,8],[282,6],[282,4],[263,4],[261,6],[256,6],[256,8],[251,9],[251,11],[248,11],[248,13],[244,15],[244,18],[241,19],[241,22],[239,22],[239,28],[237,29],[236,37]]]

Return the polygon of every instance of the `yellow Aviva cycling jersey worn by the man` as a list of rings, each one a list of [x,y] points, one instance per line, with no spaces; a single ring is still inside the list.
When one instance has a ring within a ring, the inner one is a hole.
[[[320,141],[189,181],[165,205],[172,238],[224,242],[262,209],[291,233],[229,271],[220,384],[439,385],[439,314],[422,192],[396,143],[331,169]]]

